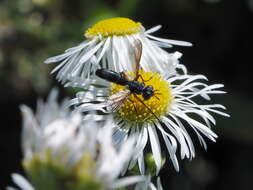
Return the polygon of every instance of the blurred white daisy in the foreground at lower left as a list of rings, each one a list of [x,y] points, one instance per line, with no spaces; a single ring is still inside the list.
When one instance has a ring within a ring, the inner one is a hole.
[[[134,153],[135,139],[119,150],[112,143],[111,121],[101,127],[93,116],[64,111],[56,103],[54,90],[48,102],[38,104],[36,115],[24,105],[23,166],[29,182],[18,174],[14,182],[22,190],[33,189],[115,189],[140,182],[143,176],[118,178]]]

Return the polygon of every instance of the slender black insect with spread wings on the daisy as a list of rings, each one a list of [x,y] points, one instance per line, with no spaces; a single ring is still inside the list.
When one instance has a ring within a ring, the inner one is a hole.
[[[133,94],[134,97],[138,101],[140,101],[155,116],[156,119],[158,119],[158,117],[153,113],[153,111],[137,96],[137,94],[141,95],[144,100],[148,100],[152,96],[155,95],[154,92],[156,90],[154,90],[153,86],[151,86],[151,85],[145,86],[145,84],[144,84],[144,82],[151,80],[151,78],[145,81],[142,78],[142,76],[139,74],[140,59],[141,59],[141,55],[142,55],[142,44],[141,44],[140,40],[134,41],[133,48],[134,48],[134,57],[135,57],[134,79],[130,79],[130,77],[127,74],[125,74],[124,72],[117,73],[115,71],[108,70],[108,69],[98,69],[96,71],[96,75],[102,79],[109,81],[109,82],[112,82],[112,83],[115,83],[118,85],[122,85],[122,86],[126,86],[126,89],[124,89],[116,94],[113,94],[112,96],[109,97],[108,101],[111,102],[111,106],[112,106],[111,111],[112,112],[117,111],[121,107],[121,105],[123,105],[124,102],[129,99],[129,96],[131,94]],[[139,82],[138,81],[139,78],[141,78],[143,82]],[[159,93],[156,93],[156,94],[159,94]],[[156,97],[156,96],[154,96],[154,97]],[[159,99],[158,97],[156,97],[156,98]]]

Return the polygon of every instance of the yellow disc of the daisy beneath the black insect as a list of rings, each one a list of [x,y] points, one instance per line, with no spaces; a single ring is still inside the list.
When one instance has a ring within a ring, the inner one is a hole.
[[[128,76],[133,77],[134,73],[126,73]],[[139,71],[141,77],[138,78],[139,82],[144,82],[145,86],[151,85],[154,88],[154,95],[144,100],[142,95],[131,94],[129,99],[124,102],[121,108],[115,113],[116,117],[129,124],[150,123],[157,121],[157,116],[160,118],[168,113],[170,105],[173,101],[171,94],[170,83],[164,80],[158,73]],[[144,81],[143,81],[144,80]],[[127,87],[112,83],[110,93],[116,94]],[[146,105],[143,105],[138,98]],[[152,110],[152,112],[148,109]],[[155,116],[154,116],[155,115]]]

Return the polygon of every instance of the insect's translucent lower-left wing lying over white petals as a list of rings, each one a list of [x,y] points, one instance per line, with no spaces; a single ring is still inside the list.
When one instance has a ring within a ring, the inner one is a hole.
[[[119,91],[116,94],[111,95],[107,100],[107,111],[116,112],[120,109],[120,107],[125,103],[125,101],[131,95],[130,90],[124,89]]]

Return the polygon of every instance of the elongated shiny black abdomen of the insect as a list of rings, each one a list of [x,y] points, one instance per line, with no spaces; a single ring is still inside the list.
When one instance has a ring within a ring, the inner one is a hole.
[[[96,75],[102,79],[119,85],[126,85],[128,82],[127,79],[122,77],[120,73],[108,69],[98,69],[96,70]]]

